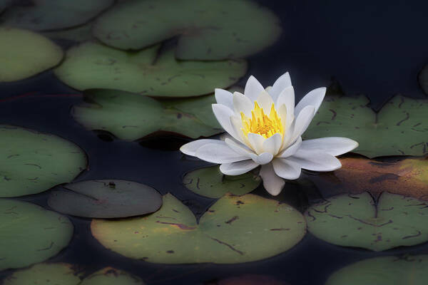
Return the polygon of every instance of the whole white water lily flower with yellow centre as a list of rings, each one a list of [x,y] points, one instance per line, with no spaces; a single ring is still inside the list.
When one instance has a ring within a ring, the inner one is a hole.
[[[261,165],[263,185],[278,195],[286,180],[300,177],[301,169],[337,170],[335,157],[349,152],[358,142],[349,138],[303,140],[326,88],[307,93],[295,106],[290,75],[285,73],[273,86],[263,88],[254,76],[248,78],[244,94],[215,89],[213,112],[228,133],[225,140],[195,140],[180,150],[208,162],[219,163],[225,175],[240,175]]]

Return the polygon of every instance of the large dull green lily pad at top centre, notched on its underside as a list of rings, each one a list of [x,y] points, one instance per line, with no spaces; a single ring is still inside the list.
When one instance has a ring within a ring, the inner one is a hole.
[[[178,36],[176,55],[186,60],[243,58],[270,46],[280,32],[272,11],[244,0],[124,1],[93,30],[108,46],[133,50]]]

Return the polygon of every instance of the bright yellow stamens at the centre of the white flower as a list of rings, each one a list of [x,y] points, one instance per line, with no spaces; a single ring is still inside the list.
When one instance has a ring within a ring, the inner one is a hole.
[[[277,114],[275,105],[272,103],[269,115],[266,115],[263,108],[260,108],[257,101],[254,101],[254,109],[251,111],[251,118],[248,118],[243,112],[240,113],[243,122],[243,133],[248,138],[248,133],[262,135],[263,138],[270,138],[275,133],[284,135],[281,118]]]

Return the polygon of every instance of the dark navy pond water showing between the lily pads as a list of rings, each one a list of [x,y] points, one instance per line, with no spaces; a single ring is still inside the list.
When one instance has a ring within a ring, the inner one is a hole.
[[[332,78],[347,95],[367,95],[374,108],[379,108],[397,93],[424,97],[417,73],[428,63],[428,37],[424,34],[428,2],[381,4],[378,1],[376,5],[372,1],[352,4],[346,1],[259,2],[275,11],[284,29],[274,46],[249,58],[248,75],[253,74],[265,86],[290,71],[297,98],[313,88],[330,86]],[[240,84],[247,78],[245,76]],[[71,106],[82,100],[78,94],[58,81],[51,71],[17,83],[3,83],[0,85],[1,123],[59,135],[82,147],[89,157],[89,169],[76,181],[141,182],[163,194],[172,192],[197,215],[213,204],[213,199],[200,197],[182,184],[185,172],[208,165],[185,159],[177,150],[178,145],[188,140],[176,138],[139,143],[110,140],[106,135],[101,135],[101,139],[71,118]],[[255,192],[266,197],[263,186]],[[48,207],[48,195],[49,191],[17,199]],[[321,197],[322,193],[317,190],[290,184],[277,199],[304,211],[308,202]],[[334,271],[355,261],[428,252],[428,244],[379,253],[337,247],[307,233],[297,246],[263,261],[235,265],[151,264],[106,250],[91,236],[91,219],[70,219],[75,226],[71,244],[49,261],[79,264],[88,271],[113,266],[141,276],[147,284],[203,284],[245,273],[272,275],[291,285],[324,284]],[[0,272],[0,279],[11,272]]]

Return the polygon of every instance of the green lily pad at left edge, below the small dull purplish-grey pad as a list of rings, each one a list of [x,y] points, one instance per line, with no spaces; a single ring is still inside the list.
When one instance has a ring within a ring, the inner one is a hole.
[[[0,199],[0,271],[49,259],[72,235],[67,217],[28,202]]]

